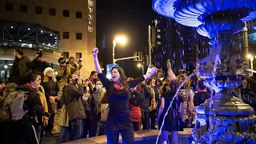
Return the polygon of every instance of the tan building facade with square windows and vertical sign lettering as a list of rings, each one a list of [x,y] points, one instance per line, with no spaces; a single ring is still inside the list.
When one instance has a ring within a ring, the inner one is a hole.
[[[82,77],[89,77],[94,70],[91,50],[96,46],[96,0],[3,0],[0,4],[2,20],[29,22],[58,31],[58,41],[49,45],[62,52],[64,58],[74,57],[77,61],[82,58]],[[50,63],[58,64],[59,54],[49,56],[54,57],[48,58]]]

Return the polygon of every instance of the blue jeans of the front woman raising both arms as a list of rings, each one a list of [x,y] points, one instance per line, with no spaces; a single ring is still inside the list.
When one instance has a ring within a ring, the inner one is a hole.
[[[121,133],[123,144],[134,144],[132,122],[106,122],[107,144],[118,144],[119,133]]]

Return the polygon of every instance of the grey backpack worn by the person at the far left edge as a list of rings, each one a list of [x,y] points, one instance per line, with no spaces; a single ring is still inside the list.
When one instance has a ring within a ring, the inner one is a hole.
[[[18,121],[28,112],[23,110],[25,93],[22,90],[12,90],[7,94],[0,107],[0,120],[3,122]]]

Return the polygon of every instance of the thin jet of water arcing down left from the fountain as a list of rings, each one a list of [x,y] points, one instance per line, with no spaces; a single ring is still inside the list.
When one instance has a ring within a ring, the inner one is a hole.
[[[197,72],[194,72],[193,74],[190,74],[185,80],[184,82],[182,82],[181,86],[178,87],[178,90],[176,91],[175,95],[174,95],[174,98],[171,99],[170,101],[170,106],[168,107],[168,109],[166,110],[166,114],[164,115],[163,119],[162,119],[162,126],[164,125],[165,123],[165,119],[166,119],[166,115],[168,114],[168,111],[170,110],[170,107],[173,105],[173,102],[174,102],[174,99],[177,97],[178,95],[178,91],[181,90],[182,86],[186,83],[186,81],[188,79],[190,79],[191,77],[193,77],[195,74],[198,74],[198,71]],[[159,136],[161,134],[161,131],[162,131],[162,126],[159,130],[159,133],[158,133],[158,138],[157,138],[157,141],[155,142],[155,144],[158,144],[158,139],[159,139]]]

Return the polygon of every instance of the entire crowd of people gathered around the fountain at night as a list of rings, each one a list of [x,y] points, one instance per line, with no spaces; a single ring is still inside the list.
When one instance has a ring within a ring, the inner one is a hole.
[[[187,74],[182,70],[174,74],[170,60],[166,62],[166,78],[155,67],[139,78],[128,78],[121,67],[113,67],[111,79],[108,79],[102,74],[98,63],[98,48],[94,48],[92,53],[95,71],[88,78],[82,78],[82,61],[76,63],[74,57],[68,61],[59,58],[58,74],[55,75],[44,61],[42,52],[35,54],[34,60],[30,61],[21,49],[14,50],[9,81],[0,81],[2,142],[42,142],[43,137],[54,135],[54,117],[59,111],[61,143],[105,134],[111,144],[118,143],[119,134],[122,135],[122,142],[134,143],[134,131],[160,128],[163,115],[167,113],[162,142],[170,143],[168,134],[171,132],[171,141],[177,144],[178,131],[194,126],[196,106],[210,98],[210,90],[204,85],[205,79],[199,74],[186,81],[174,98]],[[233,94],[256,109],[253,79],[244,79],[242,86]],[[14,104],[22,104],[24,111],[10,110],[13,114],[4,114],[6,107],[11,106],[6,105],[11,97],[21,99]],[[167,111],[173,98],[171,109]]]

